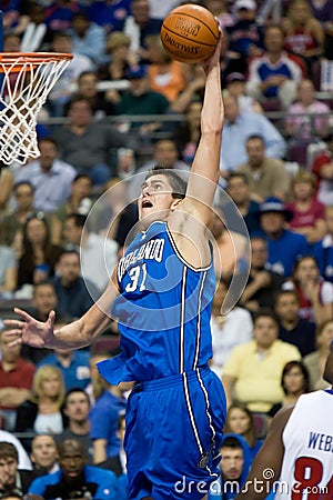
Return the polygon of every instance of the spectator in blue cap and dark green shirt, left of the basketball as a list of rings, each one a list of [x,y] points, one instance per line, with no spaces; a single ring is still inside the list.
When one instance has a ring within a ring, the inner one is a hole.
[[[117,103],[115,114],[150,116],[164,114],[169,111],[170,102],[165,96],[150,88],[145,66],[132,66],[127,73],[127,79],[130,81],[130,87]],[[130,129],[129,122],[127,127]],[[154,132],[160,127],[161,123],[157,121],[135,121],[132,123],[132,129],[142,137]]]

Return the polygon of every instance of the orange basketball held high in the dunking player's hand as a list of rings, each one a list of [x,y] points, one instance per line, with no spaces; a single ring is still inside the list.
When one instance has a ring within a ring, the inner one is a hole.
[[[214,52],[219,36],[214,16],[204,7],[190,3],[169,12],[161,28],[165,52],[176,61],[191,64]]]

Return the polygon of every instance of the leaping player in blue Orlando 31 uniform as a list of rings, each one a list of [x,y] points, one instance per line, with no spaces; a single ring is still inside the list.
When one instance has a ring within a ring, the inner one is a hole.
[[[111,282],[78,321],[53,331],[7,320],[16,343],[50,349],[90,344],[119,320],[122,353],[99,366],[110,383],[135,381],[127,410],[130,499],[202,499],[219,474],[225,397],[209,369],[214,269],[208,224],[219,179],[223,128],[221,41],[201,63],[205,74],[201,140],[188,187],[168,170],[148,174],[139,199],[140,223]]]

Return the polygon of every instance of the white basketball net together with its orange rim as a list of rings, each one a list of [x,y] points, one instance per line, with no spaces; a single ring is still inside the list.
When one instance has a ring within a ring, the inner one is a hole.
[[[40,156],[37,117],[71,54],[0,53],[0,161]]]

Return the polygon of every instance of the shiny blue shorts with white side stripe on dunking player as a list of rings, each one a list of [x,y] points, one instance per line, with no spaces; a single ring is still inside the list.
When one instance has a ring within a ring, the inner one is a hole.
[[[219,476],[225,413],[209,368],[135,386],[124,440],[129,498],[202,499]]]

